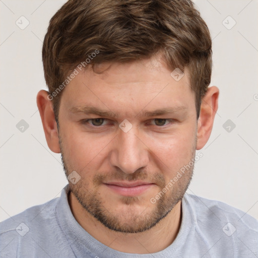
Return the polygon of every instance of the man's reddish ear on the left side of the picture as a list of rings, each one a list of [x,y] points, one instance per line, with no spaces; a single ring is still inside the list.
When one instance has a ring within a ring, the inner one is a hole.
[[[57,124],[54,117],[52,102],[48,98],[49,92],[40,90],[37,94],[37,106],[47,145],[52,152],[60,153]]]

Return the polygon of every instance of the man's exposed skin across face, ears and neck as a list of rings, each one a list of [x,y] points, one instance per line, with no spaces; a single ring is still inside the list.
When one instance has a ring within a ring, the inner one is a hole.
[[[156,203],[150,199],[207,143],[219,90],[208,89],[197,120],[187,68],[178,82],[160,56],[99,65],[100,70],[106,68],[96,74],[89,67],[63,90],[59,130],[49,93],[39,91],[37,105],[46,141],[51,151],[61,153],[67,175],[76,171],[81,176],[76,184],[69,182],[69,204],[78,223],[118,251],[157,252],[169,246],[179,231],[181,199],[193,166]],[[70,111],[85,105],[116,116]],[[142,114],[176,106],[184,108],[150,117]],[[105,119],[86,121],[94,118]],[[124,119],[132,124],[127,133],[119,127]],[[136,196],[123,196],[105,184],[137,180],[152,184]]]

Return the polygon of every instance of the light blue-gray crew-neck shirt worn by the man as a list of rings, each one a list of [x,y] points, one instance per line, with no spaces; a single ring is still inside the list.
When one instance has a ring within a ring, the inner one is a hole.
[[[68,185],[59,198],[1,222],[0,257],[258,257],[258,221],[224,203],[185,193],[174,242],[156,253],[134,254],[114,250],[87,233],[75,220],[67,193]]]

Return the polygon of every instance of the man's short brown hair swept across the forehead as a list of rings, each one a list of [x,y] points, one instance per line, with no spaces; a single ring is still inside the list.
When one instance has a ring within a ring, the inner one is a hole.
[[[52,94],[96,49],[93,67],[162,53],[169,68],[189,69],[199,117],[211,81],[211,47],[209,29],[190,0],[69,0],[49,22],[42,59]],[[56,121],[61,93],[52,98]]]

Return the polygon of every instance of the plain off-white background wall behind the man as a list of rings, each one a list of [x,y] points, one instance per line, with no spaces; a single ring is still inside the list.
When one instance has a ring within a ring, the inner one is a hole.
[[[67,184],[60,154],[47,147],[36,105],[37,92],[46,89],[42,41],[64,2],[0,0],[0,221],[59,196]],[[194,2],[211,31],[211,85],[220,97],[187,191],[258,219],[258,1]],[[22,119],[29,126],[24,132],[17,128]]]

